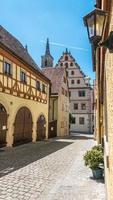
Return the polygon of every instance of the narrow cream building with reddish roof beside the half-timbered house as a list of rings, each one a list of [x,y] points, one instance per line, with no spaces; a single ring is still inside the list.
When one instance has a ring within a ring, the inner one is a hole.
[[[51,80],[49,137],[69,134],[69,92],[65,68],[47,67],[43,73]]]

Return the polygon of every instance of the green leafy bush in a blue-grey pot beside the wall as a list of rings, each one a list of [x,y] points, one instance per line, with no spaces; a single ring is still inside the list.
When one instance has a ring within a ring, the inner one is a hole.
[[[103,148],[101,145],[94,146],[90,151],[84,155],[85,165],[92,169],[93,177],[100,179],[103,177]]]

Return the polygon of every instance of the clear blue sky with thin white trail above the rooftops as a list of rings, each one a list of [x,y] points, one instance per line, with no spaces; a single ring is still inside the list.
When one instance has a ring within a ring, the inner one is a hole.
[[[94,4],[95,0],[0,0],[0,24],[28,45],[39,66],[45,52],[42,41],[49,37],[50,42],[59,44],[50,45],[54,64],[68,47],[85,74],[94,78],[91,46],[82,19]]]

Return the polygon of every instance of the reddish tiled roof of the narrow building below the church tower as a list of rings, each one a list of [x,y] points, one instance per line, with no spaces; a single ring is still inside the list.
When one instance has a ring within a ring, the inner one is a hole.
[[[62,84],[62,78],[65,73],[63,67],[48,67],[42,69],[44,75],[51,80],[51,94],[58,94]]]

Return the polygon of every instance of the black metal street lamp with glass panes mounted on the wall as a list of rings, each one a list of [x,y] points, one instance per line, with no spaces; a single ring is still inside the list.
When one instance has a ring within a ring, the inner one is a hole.
[[[96,48],[103,38],[105,24],[107,21],[107,12],[101,9],[95,9],[83,19],[84,24],[87,27],[89,40],[93,47]]]

